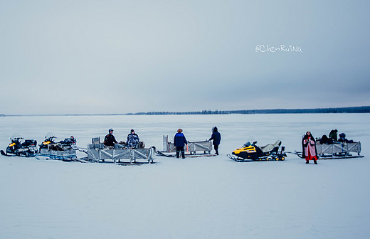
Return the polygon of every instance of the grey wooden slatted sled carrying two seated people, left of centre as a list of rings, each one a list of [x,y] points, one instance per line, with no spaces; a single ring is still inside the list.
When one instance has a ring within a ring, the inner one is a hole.
[[[125,143],[114,144],[106,147],[100,142],[100,137],[92,139],[88,144],[88,161],[112,162],[115,164],[147,164],[154,163],[155,147],[144,148],[144,143],[139,142],[138,149],[131,149]]]

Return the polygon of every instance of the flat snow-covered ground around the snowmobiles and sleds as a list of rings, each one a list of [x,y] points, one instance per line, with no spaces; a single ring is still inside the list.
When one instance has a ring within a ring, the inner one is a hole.
[[[220,156],[118,166],[0,156],[0,238],[369,238],[370,115],[162,115],[0,117],[0,147],[18,132],[38,143],[71,134],[79,147],[135,129],[162,150],[184,129],[190,141],[217,126]],[[248,137],[300,150],[302,134],[331,129],[361,141],[364,158],[237,163]]]

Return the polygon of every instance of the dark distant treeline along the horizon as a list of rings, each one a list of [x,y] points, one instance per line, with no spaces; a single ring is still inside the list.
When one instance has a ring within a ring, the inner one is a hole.
[[[327,114],[370,113],[370,106],[317,108],[317,109],[271,109],[271,110],[202,110],[189,112],[138,112],[127,115],[229,115],[229,114]]]

